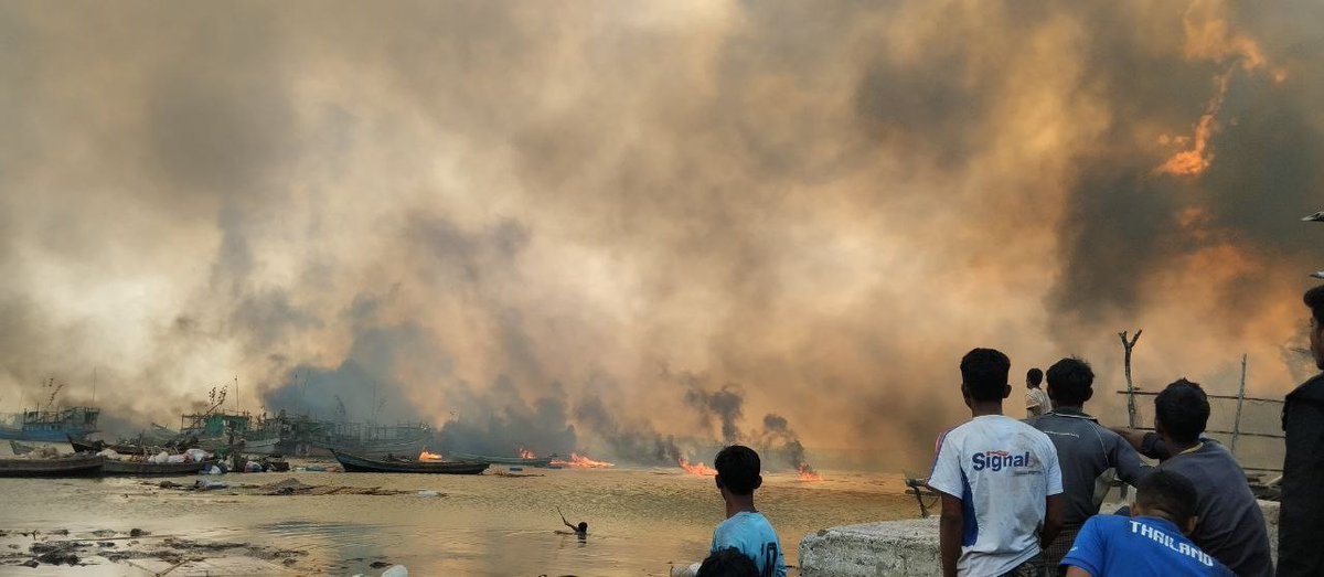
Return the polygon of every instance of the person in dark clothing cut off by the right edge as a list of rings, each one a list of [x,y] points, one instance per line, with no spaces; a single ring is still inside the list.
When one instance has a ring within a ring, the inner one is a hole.
[[[1324,217],[1319,218],[1324,221]],[[1324,371],[1324,285],[1305,292],[1311,355]],[[1283,496],[1278,510],[1278,576],[1324,574],[1324,373],[1287,394],[1283,405]]]

